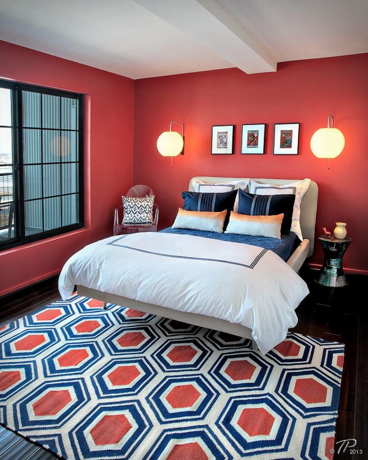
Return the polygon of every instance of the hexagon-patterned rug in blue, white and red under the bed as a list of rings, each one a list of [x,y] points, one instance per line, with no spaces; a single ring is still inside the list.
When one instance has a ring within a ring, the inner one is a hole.
[[[332,459],[343,345],[75,295],[0,328],[0,422],[63,459]]]

